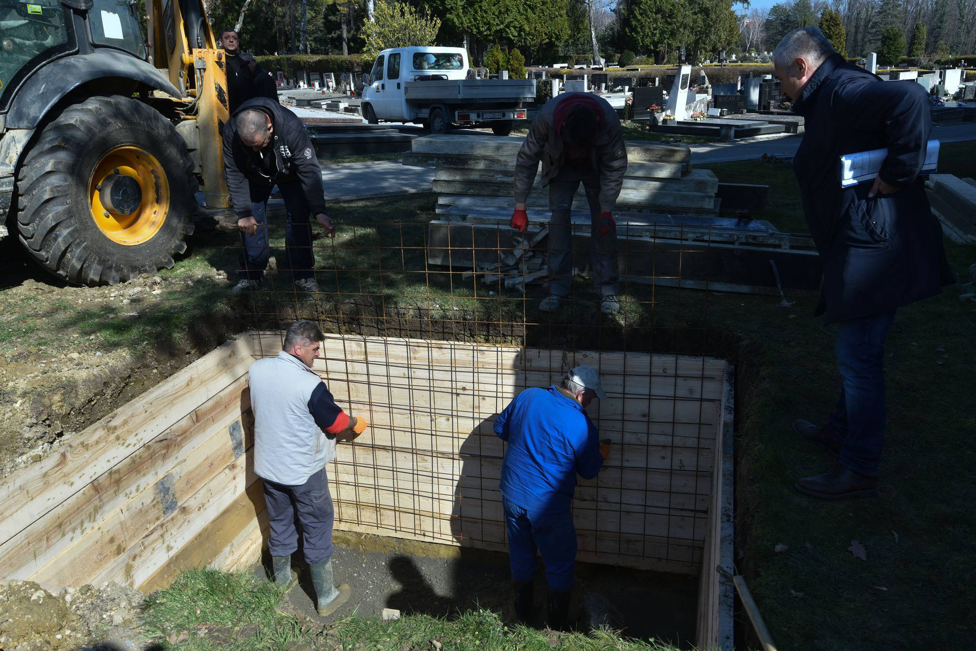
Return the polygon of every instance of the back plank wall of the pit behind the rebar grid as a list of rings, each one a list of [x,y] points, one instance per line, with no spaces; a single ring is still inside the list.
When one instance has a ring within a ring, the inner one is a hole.
[[[257,356],[280,347],[280,333],[255,338]],[[505,549],[492,424],[519,391],[578,364],[603,377],[609,396],[590,417],[613,441],[577,489],[579,557],[698,574],[726,366],[710,358],[326,335],[315,370],[372,426],[330,468],[337,528]]]

